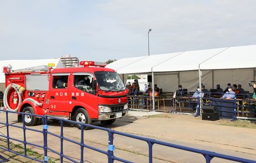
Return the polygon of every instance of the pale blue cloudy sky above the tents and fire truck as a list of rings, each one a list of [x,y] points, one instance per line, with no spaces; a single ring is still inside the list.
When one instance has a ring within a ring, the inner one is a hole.
[[[105,62],[256,44],[256,1],[0,0],[0,60]]]

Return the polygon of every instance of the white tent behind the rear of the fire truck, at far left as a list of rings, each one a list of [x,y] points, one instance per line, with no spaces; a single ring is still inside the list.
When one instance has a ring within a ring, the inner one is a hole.
[[[43,59],[43,60],[4,60],[0,61],[0,66],[2,67],[0,73],[0,90],[3,92],[5,89],[5,74],[3,73],[3,67],[7,65],[11,65],[12,69],[22,69],[40,65],[47,65],[48,63],[54,63],[55,67],[53,68],[61,68],[63,64],[60,58],[56,59]]]

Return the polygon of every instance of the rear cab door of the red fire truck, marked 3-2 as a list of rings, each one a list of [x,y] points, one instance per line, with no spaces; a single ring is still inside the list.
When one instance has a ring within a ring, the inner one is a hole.
[[[52,74],[49,85],[49,109],[54,112],[68,112],[69,109],[69,73]]]

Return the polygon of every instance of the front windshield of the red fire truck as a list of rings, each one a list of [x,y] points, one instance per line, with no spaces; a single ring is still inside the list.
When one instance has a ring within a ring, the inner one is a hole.
[[[99,71],[94,73],[99,88],[105,91],[121,91],[126,88],[119,75],[114,72]]]

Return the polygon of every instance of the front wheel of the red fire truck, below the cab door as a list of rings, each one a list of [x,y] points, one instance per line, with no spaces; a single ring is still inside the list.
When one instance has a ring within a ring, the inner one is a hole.
[[[87,111],[84,108],[78,108],[78,110],[75,111],[74,121],[91,124],[91,119],[87,113]],[[78,129],[81,129],[81,125],[76,124],[76,127]],[[84,130],[88,130],[88,127],[85,127]]]

